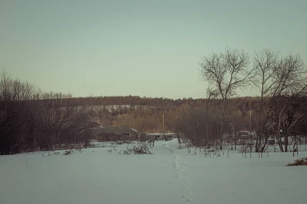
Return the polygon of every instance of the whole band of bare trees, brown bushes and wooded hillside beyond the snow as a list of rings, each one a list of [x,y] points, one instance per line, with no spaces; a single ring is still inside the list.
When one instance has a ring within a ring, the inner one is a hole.
[[[281,151],[307,135],[307,72],[299,55],[280,56],[270,49],[252,55],[226,48],[204,56],[204,98],[170,99],[139,96],[73,97],[43,92],[12,79],[0,81],[0,155],[23,151],[86,147],[79,134],[90,121],[103,126],[129,126],[139,133],[183,135],[195,145],[235,142],[246,131],[253,149],[262,152],[269,139]],[[236,97],[238,89],[257,90],[256,97]]]

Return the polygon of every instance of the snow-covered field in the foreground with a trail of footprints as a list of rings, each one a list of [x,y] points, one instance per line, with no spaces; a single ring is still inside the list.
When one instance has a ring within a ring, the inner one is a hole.
[[[177,140],[155,142],[153,155],[120,155],[102,144],[65,156],[0,156],[0,203],[285,203],[307,200],[307,166],[287,167],[307,152],[258,159],[192,155]],[[193,151],[192,151],[193,152]]]

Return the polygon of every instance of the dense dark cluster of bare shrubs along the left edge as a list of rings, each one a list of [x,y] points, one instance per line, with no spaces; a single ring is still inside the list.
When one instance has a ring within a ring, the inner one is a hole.
[[[0,73],[0,155],[86,147],[90,138],[78,133],[89,118],[71,97]]]

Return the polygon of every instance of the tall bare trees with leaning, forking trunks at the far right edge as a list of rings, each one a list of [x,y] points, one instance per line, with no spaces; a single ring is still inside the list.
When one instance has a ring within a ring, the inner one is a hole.
[[[280,142],[280,130],[285,124],[284,114],[286,110],[289,110],[293,98],[304,95],[306,92],[307,78],[304,62],[299,55],[290,54],[281,58],[278,53],[264,49],[255,53],[254,67],[257,70],[257,87],[260,91],[256,151],[262,152],[265,149],[271,132],[270,128],[277,136],[280,150],[284,151]],[[301,117],[299,115],[298,119]],[[292,129],[296,121],[293,120],[292,125],[288,125],[287,132]],[[264,142],[261,144],[262,139]],[[288,136],[285,140],[288,141]]]

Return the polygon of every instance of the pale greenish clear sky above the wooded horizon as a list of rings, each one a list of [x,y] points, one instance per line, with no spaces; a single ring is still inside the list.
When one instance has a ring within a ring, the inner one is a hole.
[[[0,69],[76,97],[201,98],[198,63],[226,46],[307,63],[306,10],[305,0],[0,0]]]

